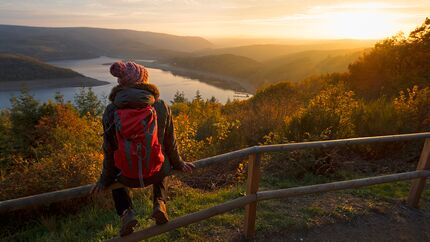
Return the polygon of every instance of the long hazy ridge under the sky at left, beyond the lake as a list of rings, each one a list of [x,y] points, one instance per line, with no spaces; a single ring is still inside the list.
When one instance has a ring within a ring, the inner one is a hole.
[[[200,37],[102,28],[46,28],[0,25],[0,52],[43,60],[98,56],[159,58],[211,48]]]

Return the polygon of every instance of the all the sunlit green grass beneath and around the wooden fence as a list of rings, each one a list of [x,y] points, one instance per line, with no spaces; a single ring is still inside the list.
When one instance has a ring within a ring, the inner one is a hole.
[[[321,176],[306,175],[303,179],[280,179],[264,176],[262,190],[287,188],[328,182]],[[375,207],[406,197],[410,182],[382,184],[356,190],[309,195],[292,199],[258,203],[257,234],[310,229],[321,224],[349,221],[368,214]],[[169,188],[168,210],[171,218],[212,207],[244,194],[245,184],[202,191],[176,184]],[[135,210],[140,216],[139,230],[151,226],[151,189],[133,191]],[[421,203],[430,204],[427,186]],[[165,233],[150,241],[225,241],[240,238],[244,209]],[[74,214],[45,215],[25,225],[0,227],[0,241],[103,241],[117,236],[120,223],[109,194],[82,205]]]

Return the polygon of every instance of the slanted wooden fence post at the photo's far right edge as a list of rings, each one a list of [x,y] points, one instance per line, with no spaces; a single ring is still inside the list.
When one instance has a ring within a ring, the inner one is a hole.
[[[427,170],[430,169],[430,139],[426,139],[424,143],[423,150],[421,152],[421,157],[417,165],[417,170]],[[408,196],[408,205],[411,207],[418,207],[420,202],[421,193],[426,185],[426,177],[415,179],[412,181],[411,190]]]

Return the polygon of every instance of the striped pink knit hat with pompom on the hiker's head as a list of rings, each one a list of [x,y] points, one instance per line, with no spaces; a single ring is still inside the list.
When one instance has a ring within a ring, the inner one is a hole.
[[[117,61],[110,66],[110,73],[118,78],[120,85],[148,83],[148,71],[135,62]]]

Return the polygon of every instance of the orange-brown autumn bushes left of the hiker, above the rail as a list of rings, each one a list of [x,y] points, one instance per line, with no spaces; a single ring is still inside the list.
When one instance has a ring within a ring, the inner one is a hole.
[[[80,117],[70,104],[49,102],[33,108],[25,112],[45,114],[30,119],[33,126],[25,129],[32,131],[32,140],[28,140],[32,156],[14,151],[13,169],[0,181],[1,200],[92,183],[100,174],[102,125],[98,118]],[[11,115],[14,112],[17,108]],[[26,117],[22,113],[19,117]]]

